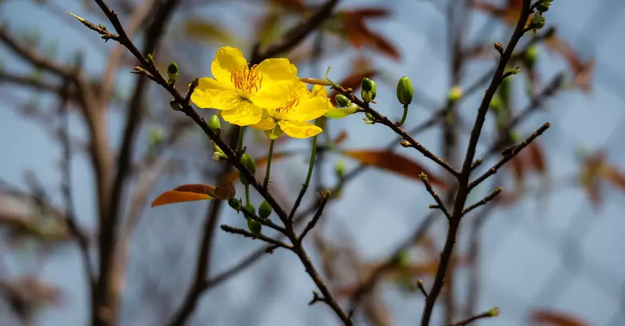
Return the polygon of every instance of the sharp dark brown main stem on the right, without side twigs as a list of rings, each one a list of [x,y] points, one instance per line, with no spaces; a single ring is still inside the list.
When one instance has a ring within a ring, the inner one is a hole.
[[[445,240],[444,248],[440,256],[440,264],[437,268],[432,289],[429,293],[428,298],[426,299],[426,304],[424,305],[421,319],[422,326],[430,325],[430,318],[434,309],[434,304],[436,302],[438,294],[442,289],[444,278],[447,274],[447,265],[449,264],[449,260],[451,259],[453,246],[456,243],[456,233],[458,232],[458,227],[460,226],[462,209],[465,205],[465,201],[467,200],[467,196],[469,195],[469,175],[471,173],[471,166],[473,164],[475,156],[475,149],[477,147],[486,114],[488,112],[488,107],[490,105],[490,101],[492,101],[492,97],[494,96],[495,91],[497,90],[497,87],[499,87],[499,84],[501,83],[503,72],[506,69],[508,60],[510,60],[512,51],[514,51],[515,46],[524,34],[523,29],[530,14],[530,4],[531,0],[523,0],[522,12],[519,17],[519,21],[517,22],[515,31],[510,37],[508,46],[506,46],[506,51],[503,52],[503,55],[501,55],[501,58],[499,59],[499,65],[497,66],[497,70],[495,71],[490,85],[486,90],[486,94],[482,99],[481,105],[478,108],[478,114],[476,116],[473,129],[471,130],[469,145],[467,146],[465,160],[462,164],[462,170],[458,177],[458,192],[456,193],[456,198],[453,200],[453,212],[451,213],[451,218],[449,219],[447,239]]]

